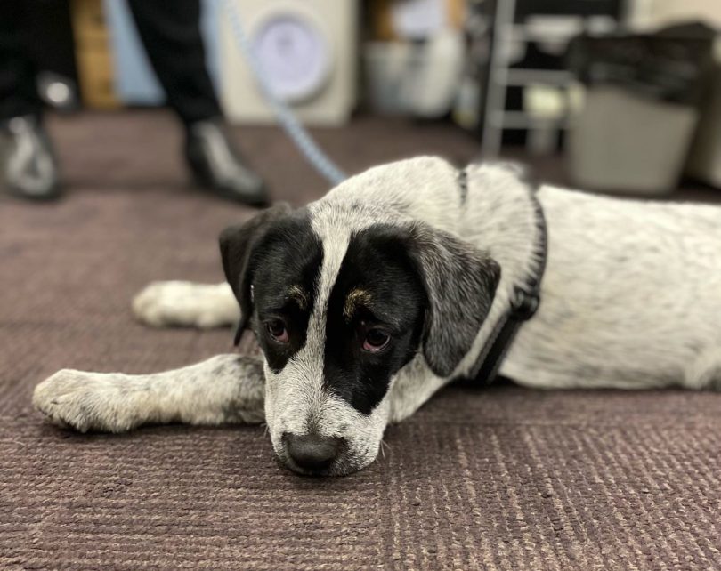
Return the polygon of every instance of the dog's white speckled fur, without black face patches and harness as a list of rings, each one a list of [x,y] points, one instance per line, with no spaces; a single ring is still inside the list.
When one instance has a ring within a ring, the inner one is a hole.
[[[474,366],[514,285],[537,268],[539,229],[529,193],[508,165],[469,166],[466,197],[457,170],[438,158],[370,169],[308,206],[322,264],[304,345],[281,370],[220,356],[139,377],[61,371],[38,385],[34,403],[54,422],[110,431],[174,420],[259,422],[264,404],[273,447],[291,468],[298,470],[282,434],[314,430],[347,441],[328,473],[358,470],[376,457],[388,422],[413,414]],[[549,186],[537,197],[548,232],[541,304],[501,374],[542,388],[719,388],[721,209]],[[404,229],[420,245],[430,309],[416,357],[393,374],[370,414],[361,414],[324,386],[328,297],[352,237],[376,225]],[[501,271],[494,295],[495,264]],[[457,271],[471,268],[482,277]],[[468,296],[483,288],[490,307],[483,295]],[[153,285],[136,298],[134,311],[156,326],[238,319],[228,286]],[[477,325],[470,337],[469,323]],[[458,347],[465,356],[454,356]]]

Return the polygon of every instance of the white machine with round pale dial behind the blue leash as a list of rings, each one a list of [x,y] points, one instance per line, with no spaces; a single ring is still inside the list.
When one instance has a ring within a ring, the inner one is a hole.
[[[342,125],[355,104],[357,0],[234,0],[273,92],[307,125]],[[221,99],[235,123],[275,123],[231,22],[221,19]]]

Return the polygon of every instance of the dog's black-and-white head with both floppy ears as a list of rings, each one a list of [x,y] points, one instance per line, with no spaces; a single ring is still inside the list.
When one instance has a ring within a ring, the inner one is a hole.
[[[424,223],[326,206],[274,206],[220,244],[240,327],[252,326],[265,356],[276,454],[292,470],[341,475],[376,458],[403,366],[423,358],[452,374],[499,269]]]

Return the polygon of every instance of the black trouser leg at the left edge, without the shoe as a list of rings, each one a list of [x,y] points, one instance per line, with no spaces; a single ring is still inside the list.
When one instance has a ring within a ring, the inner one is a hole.
[[[42,112],[36,69],[28,50],[28,6],[0,0],[0,121]]]

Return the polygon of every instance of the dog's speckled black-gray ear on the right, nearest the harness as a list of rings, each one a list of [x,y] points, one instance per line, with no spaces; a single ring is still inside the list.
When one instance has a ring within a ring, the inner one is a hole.
[[[474,245],[425,224],[414,224],[410,237],[428,297],[423,354],[433,373],[449,376],[488,316],[500,266]]]

